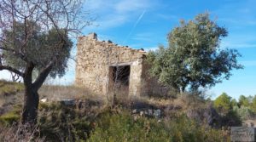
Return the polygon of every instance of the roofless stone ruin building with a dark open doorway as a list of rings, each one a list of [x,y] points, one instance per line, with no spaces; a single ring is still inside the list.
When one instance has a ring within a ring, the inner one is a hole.
[[[146,52],[98,41],[96,33],[79,37],[77,44],[76,86],[96,94],[119,89],[127,95],[148,92]]]

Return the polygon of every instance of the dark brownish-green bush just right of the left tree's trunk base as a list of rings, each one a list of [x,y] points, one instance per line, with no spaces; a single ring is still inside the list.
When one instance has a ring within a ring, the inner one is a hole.
[[[47,141],[85,141],[91,131],[90,121],[74,107],[59,103],[40,104],[38,128]]]

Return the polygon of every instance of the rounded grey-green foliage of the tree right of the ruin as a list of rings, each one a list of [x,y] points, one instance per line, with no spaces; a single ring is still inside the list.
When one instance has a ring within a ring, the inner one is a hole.
[[[210,20],[209,14],[199,14],[195,20],[175,27],[168,34],[169,45],[148,53],[150,73],[160,82],[184,91],[212,87],[230,78],[232,69],[241,69],[236,49],[219,48],[228,31]]]

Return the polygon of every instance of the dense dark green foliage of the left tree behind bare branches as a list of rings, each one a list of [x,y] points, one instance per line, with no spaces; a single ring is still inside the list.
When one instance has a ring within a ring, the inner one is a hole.
[[[34,71],[38,73],[44,69],[51,60],[56,60],[55,65],[49,72],[51,77],[62,77],[65,74],[67,68],[67,61],[70,58],[70,51],[73,47],[71,39],[68,38],[67,33],[64,30],[59,29],[56,31],[55,28],[49,30],[49,32],[41,33],[42,27],[38,26],[37,23],[33,21],[26,21],[27,25],[32,28],[31,36],[27,39],[26,48],[24,53],[26,54],[26,59],[33,62],[35,65]],[[12,48],[15,51],[19,50],[19,46],[26,35],[23,30],[24,23],[16,23],[15,27],[12,29],[7,29],[3,31],[3,37],[8,43],[3,44],[3,48]],[[15,31],[15,33],[13,32]],[[59,36],[61,35],[61,37]],[[63,46],[60,48],[61,38],[64,39]],[[56,55],[57,53],[57,55]],[[10,50],[3,50],[4,60],[6,65],[11,65],[20,71],[25,71],[26,61],[20,60],[19,54],[13,54]]]

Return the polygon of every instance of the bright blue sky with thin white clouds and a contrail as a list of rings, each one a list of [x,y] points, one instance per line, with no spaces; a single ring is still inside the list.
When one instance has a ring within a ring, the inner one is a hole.
[[[229,31],[220,48],[236,48],[244,69],[231,71],[229,80],[208,89],[207,94],[215,99],[225,92],[238,99],[241,94],[256,94],[255,5],[255,0],[86,0],[84,9],[95,20],[84,28],[83,34],[96,32],[99,40],[154,50],[160,44],[167,45],[166,35],[179,25],[179,20],[192,20],[195,15],[208,12],[212,20]],[[55,83],[71,84],[74,77],[75,63],[70,61],[66,76]],[[0,78],[9,78],[9,73],[0,71]]]

